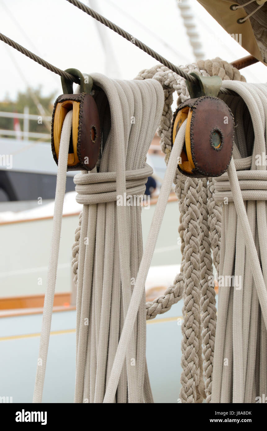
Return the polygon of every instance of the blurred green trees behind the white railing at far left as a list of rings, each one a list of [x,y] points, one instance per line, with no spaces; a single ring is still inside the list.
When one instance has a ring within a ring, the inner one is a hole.
[[[36,89],[27,88],[24,92],[19,92],[17,94],[17,98],[15,101],[10,100],[7,96],[3,102],[0,102],[0,111],[4,112],[18,112],[22,113],[24,111],[24,107],[28,106],[29,113],[40,116],[40,111],[38,109],[37,103],[40,103],[45,111],[45,115],[51,116],[53,111],[53,102],[56,99],[56,92],[49,94],[44,97],[41,95],[41,86]],[[0,129],[13,130],[13,118],[5,118],[0,117]],[[21,130],[23,130],[23,119],[19,119],[19,124]],[[38,133],[48,133],[45,122],[42,120],[38,123],[38,120],[30,120],[29,122],[29,131],[30,132],[38,132]],[[3,136],[3,135],[2,135]]]

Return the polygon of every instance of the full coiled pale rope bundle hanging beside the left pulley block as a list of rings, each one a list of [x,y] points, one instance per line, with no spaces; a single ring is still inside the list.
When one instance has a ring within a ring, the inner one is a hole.
[[[144,160],[162,113],[163,91],[154,80],[91,76],[107,96],[111,131],[99,172],[75,176],[77,200],[84,203],[81,238],[90,243],[85,247],[80,241],[79,250],[75,402],[102,403],[142,254],[140,206],[116,206],[116,197],[144,193],[151,174]],[[145,363],[144,307],[143,290],[116,397],[114,393],[110,402],[153,400]]]

